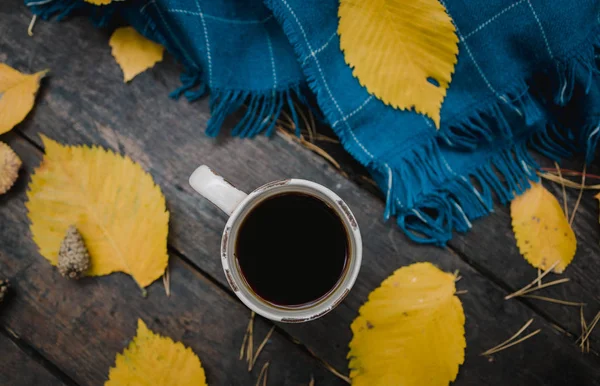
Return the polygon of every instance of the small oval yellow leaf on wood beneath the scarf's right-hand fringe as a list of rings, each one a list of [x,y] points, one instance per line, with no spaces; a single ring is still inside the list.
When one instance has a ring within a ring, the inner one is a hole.
[[[573,260],[577,240],[558,200],[541,184],[510,203],[513,232],[519,251],[529,264],[547,270],[558,262],[554,272],[561,273]]]

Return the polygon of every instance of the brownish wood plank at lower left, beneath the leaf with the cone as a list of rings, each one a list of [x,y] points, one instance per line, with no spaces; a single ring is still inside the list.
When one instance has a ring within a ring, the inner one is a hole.
[[[162,283],[143,298],[124,274],[69,281],[37,253],[24,206],[26,183],[39,152],[14,134],[3,136],[21,156],[25,171],[0,197],[0,276],[11,278],[14,296],[0,324],[14,330],[80,385],[107,379],[115,355],[135,335],[141,318],[155,332],[181,341],[199,356],[211,385],[250,385],[264,361],[273,384],[300,385],[311,374],[322,384],[343,384],[315,359],[275,332],[252,373],[238,360],[250,312],[229,293],[171,256],[171,297]],[[255,349],[270,325],[257,320]]]

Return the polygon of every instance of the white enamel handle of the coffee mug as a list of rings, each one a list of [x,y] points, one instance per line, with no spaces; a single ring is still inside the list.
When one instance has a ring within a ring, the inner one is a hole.
[[[248,196],[206,165],[199,166],[194,170],[189,182],[196,192],[207,198],[229,216],[240,202]]]

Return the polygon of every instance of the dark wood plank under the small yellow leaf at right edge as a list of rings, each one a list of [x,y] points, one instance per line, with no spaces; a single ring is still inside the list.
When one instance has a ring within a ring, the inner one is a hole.
[[[563,165],[580,169],[581,160],[571,161]],[[599,165],[591,165],[588,173],[598,173]],[[589,183],[589,182],[588,182]],[[560,185],[545,181],[544,186],[562,203]],[[596,192],[597,193],[597,192]],[[567,189],[569,212],[572,214],[579,191]],[[571,279],[569,283],[550,287],[536,295],[555,299],[563,299],[586,303],[586,317],[589,319],[600,311],[600,231],[598,224],[598,201],[593,198],[595,193],[584,192],[581,205],[573,222],[573,230],[577,237],[577,253],[573,262],[563,275]],[[465,256],[470,264],[481,271],[489,273],[502,280],[507,287],[518,289],[533,280],[537,271],[531,267],[516,245],[511,226],[510,208],[498,206],[493,216],[476,221],[473,229],[466,235],[456,235],[450,246]],[[550,275],[547,281],[558,278]],[[580,316],[577,307],[548,303],[542,300],[523,299],[547,318],[556,321],[563,328],[573,333],[580,333]],[[592,346],[600,342],[600,331],[592,335]]]

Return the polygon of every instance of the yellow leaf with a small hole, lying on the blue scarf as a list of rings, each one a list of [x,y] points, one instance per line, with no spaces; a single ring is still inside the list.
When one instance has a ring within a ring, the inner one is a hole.
[[[388,105],[431,117],[439,128],[458,55],[444,6],[438,0],[341,0],[338,15],[340,46],[360,84]]]

